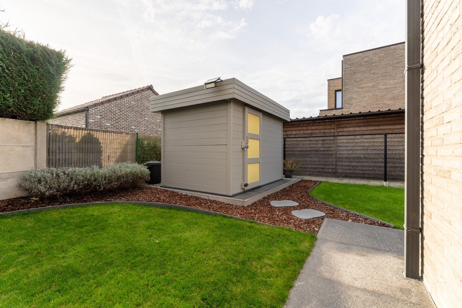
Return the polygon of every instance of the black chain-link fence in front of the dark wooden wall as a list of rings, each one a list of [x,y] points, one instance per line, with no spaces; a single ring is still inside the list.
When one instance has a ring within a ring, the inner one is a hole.
[[[404,133],[285,137],[295,175],[404,182]]]

